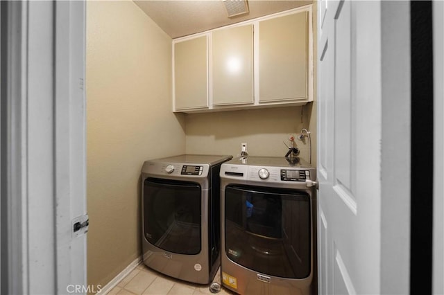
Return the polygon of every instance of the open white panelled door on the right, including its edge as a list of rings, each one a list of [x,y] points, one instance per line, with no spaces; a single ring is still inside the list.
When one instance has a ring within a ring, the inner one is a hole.
[[[393,3],[318,5],[319,294],[408,293],[409,93],[400,89],[409,78],[402,60],[409,57],[409,27],[397,27],[408,2],[388,7]],[[398,39],[387,37],[392,33]],[[392,54],[400,64],[387,69]],[[398,69],[402,74],[388,75]],[[400,88],[394,94],[393,85]],[[399,144],[407,149],[395,150]]]

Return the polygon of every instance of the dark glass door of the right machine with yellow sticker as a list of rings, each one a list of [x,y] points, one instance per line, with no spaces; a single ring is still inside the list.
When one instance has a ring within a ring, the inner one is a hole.
[[[225,251],[230,260],[271,276],[309,276],[309,195],[233,185],[225,188],[224,209]]]

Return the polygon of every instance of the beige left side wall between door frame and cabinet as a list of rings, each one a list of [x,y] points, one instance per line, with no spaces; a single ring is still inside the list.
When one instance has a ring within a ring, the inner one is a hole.
[[[171,38],[133,1],[87,2],[88,283],[140,256],[140,169],[185,152],[171,112]]]

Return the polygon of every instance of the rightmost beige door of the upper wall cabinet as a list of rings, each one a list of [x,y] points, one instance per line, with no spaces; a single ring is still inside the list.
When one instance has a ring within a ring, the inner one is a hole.
[[[259,102],[308,97],[308,12],[259,22]]]

